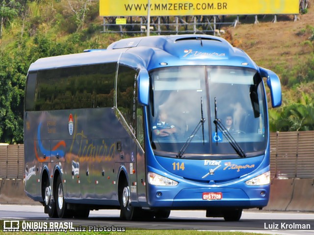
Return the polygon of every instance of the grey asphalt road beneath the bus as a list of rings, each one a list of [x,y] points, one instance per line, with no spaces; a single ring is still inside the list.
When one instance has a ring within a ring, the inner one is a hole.
[[[207,218],[206,211],[171,211],[168,219],[151,221],[123,221],[118,210],[91,211],[84,220],[50,219],[42,206],[0,205],[0,219],[18,221],[56,221],[73,222],[74,226],[95,226],[95,228],[112,227],[126,229],[158,230],[211,230],[211,231],[249,231],[253,233],[281,235],[314,234],[314,213],[243,211],[238,222],[226,222],[223,218]],[[308,226],[299,229],[297,226]],[[288,227],[288,228],[287,228]],[[93,227],[94,228],[94,227]]]

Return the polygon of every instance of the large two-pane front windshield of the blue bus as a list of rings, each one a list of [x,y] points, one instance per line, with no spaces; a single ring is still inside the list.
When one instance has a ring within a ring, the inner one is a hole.
[[[263,154],[267,143],[266,101],[257,71],[184,66],[157,69],[150,76],[150,136],[158,156],[178,157],[189,142],[184,158],[240,157],[225,133],[233,137],[246,157]],[[202,118],[204,123],[200,122]],[[215,119],[222,124],[222,130],[215,125]]]

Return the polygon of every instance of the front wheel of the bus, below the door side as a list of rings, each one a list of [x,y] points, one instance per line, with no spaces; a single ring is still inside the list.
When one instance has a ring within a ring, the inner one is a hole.
[[[130,190],[128,184],[124,181],[120,190],[120,218],[126,220],[132,220],[137,218],[139,208],[134,208],[130,201]]]

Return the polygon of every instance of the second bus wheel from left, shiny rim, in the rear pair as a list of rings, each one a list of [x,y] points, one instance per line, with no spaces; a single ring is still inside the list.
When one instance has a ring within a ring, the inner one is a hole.
[[[61,181],[61,176],[59,175],[56,181],[56,188],[54,193],[55,198],[55,205],[57,209],[57,213],[59,218],[70,218],[71,211],[67,210],[67,204],[64,201],[64,195],[63,195],[63,186]]]

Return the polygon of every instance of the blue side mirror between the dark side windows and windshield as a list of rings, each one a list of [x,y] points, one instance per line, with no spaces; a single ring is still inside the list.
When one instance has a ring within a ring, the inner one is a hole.
[[[148,71],[142,69],[137,76],[138,103],[148,105],[149,103],[149,74]]]

